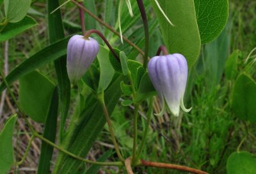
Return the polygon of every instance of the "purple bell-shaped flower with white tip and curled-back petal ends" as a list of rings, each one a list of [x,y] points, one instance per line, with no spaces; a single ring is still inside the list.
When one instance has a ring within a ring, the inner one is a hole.
[[[155,56],[148,62],[148,74],[163,101],[163,109],[158,115],[163,115],[165,106],[173,115],[179,116],[180,107],[189,112],[183,103],[188,78],[188,63],[181,54]]]

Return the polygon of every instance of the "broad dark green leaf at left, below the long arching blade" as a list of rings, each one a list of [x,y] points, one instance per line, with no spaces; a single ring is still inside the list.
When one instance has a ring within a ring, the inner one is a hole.
[[[51,104],[54,84],[44,75],[33,71],[20,78],[20,106],[30,118],[44,123]]]

